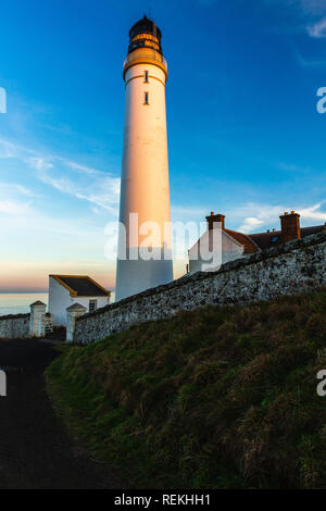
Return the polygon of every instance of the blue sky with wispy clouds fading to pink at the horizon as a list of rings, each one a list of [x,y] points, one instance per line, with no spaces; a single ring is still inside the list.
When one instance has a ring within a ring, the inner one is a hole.
[[[1,7],[0,290],[49,273],[114,286],[122,63],[143,13],[163,33],[172,216],[278,227],[326,222],[325,0],[11,0]],[[176,276],[184,261],[176,263]]]

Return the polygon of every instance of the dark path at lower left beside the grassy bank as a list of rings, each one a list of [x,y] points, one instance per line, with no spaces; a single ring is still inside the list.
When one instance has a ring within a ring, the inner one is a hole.
[[[72,443],[51,408],[42,373],[57,356],[49,342],[0,341],[8,378],[8,396],[0,397],[0,488],[122,488],[110,469]]]

